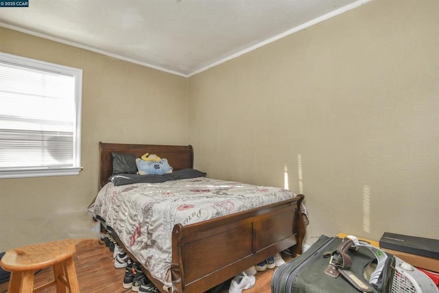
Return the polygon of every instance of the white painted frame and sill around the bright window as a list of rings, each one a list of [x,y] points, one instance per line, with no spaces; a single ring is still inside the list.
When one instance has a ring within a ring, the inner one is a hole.
[[[42,176],[78,175],[81,167],[81,110],[82,110],[82,69],[56,65],[36,59],[15,56],[0,52],[0,61],[19,67],[27,67],[41,71],[49,71],[75,78],[75,134],[73,135],[73,166],[72,167],[37,167],[1,169],[0,178],[26,178]]]

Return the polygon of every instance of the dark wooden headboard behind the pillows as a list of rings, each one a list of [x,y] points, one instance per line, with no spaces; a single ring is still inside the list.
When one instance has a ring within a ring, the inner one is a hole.
[[[134,154],[140,158],[145,153],[156,154],[167,159],[174,170],[193,168],[193,149],[191,145],[137,145],[127,143],[102,143],[99,141],[99,189],[112,175],[112,152]]]

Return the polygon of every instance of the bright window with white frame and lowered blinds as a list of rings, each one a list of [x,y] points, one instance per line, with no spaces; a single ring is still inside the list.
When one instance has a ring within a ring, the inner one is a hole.
[[[0,52],[0,178],[79,174],[82,70]]]

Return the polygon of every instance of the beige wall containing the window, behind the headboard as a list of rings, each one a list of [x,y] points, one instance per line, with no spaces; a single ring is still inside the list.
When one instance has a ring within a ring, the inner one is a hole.
[[[187,144],[187,78],[0,27],[0,51],[83,70],[78,176],[0,179],[0,251],[95,237],[98,142]]]

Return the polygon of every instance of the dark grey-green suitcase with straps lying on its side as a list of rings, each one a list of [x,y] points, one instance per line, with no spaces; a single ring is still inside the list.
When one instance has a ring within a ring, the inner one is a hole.
[[[346,237],[341,239],[320,236],[305,253],[276,268],[271,282],[272,293],[390,292],[394,273],[391,267],[394,267],[395,257],[388,253],[381,255],[384,253],[382,250],[376,252],[377,256],[366,246],[357,246],[358,250],[353,251],[351,249],[355,247],[348,247],[351,245],[346,246],[347,243]],[[343,251],[337,250],[340,246],[345,246],[342,248]],[[333,277],[337,274],[334,272],[337,269],[329,266],[329,263],[334,260],[331,257],[340,261],[340,255],[343,255],[340,266],[348,270],[341,270],[342,274]],[[349,261],[351,263],[348,263]],[[377,262],[379,265],[376,267],[382,267],[382,270],[371,274]],[[364,277],[365,271],[368,275],[374,276],[374,284]],[[347,281],[344,275],[352,282]]]

